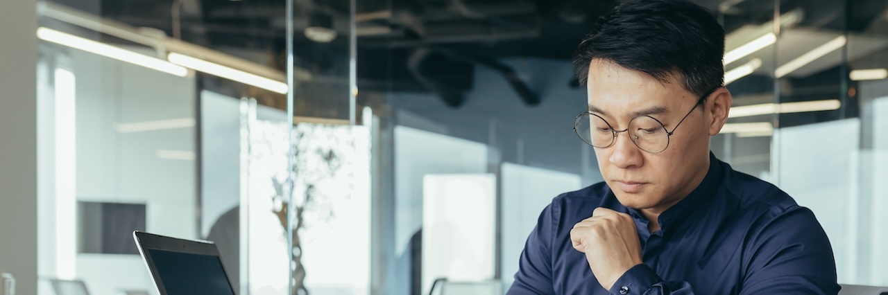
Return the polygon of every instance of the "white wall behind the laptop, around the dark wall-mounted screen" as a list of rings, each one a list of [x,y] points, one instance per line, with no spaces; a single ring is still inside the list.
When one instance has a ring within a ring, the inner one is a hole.
[[[147,230],[174,237],[197,237],[197,199],[194,166],[194,127],[170,128],[152,131],[124,133],[117,127],[154,120],[194,119],[194,79],[163,74],[140,66],[101,58],[80,50],[58,45],[44,44],[44,72],[42,92],[58,92],[58,85],[50,79],[54,67],[63,67],[75,75],[75,123],[70,146],[75,155],[76,201],[135,203],[147,205]],[[58,94],[58,93],[56,93]],[[56,164],[67,159],[65,146],[52,139],[63,135],[47,128],[58,119],[53,117],[52,93],[41,93],[48,100],[41,105],[47,114],[41,117],[41,155],[48,157],[41,164],[42,175],[53,175]],[[59,126],[57,126],[59,127]],[[67,132],[66,132],[67,133]],[[55,151],[55,152],[53,152]],[[161,151],[174,151],[185,159],[161,157]],[[52,157],[55,155],[55,157]],[[192,159],[187,159],[188,156]],[[50,170],[50,171],[46,171]],[[54,177],[54,176],[53,176]],[[70,259],[73,271],[68,278],[83,279],[95,294],[120,294],[123,290],[151,290],[153,285],[139,255],[76,253],[75,241],[59,241],[65,232],[76,232],[73,207],[55,206],[58,203],[54,184],[59,177],[47,177],[41,182],[41,276],[54,277],[67,274],[58,269],[58,260]],[[67,204],[65,206],[74,206]],[[72,215],[59,217],[60,212]],[[48,223],[48,224],[47,224]],[[62,229],[59,226],[64,225]],[[71,238],[75,235],[71,233]],[[73,258],[65,257],[69,248]],[[41,293],[52,291],[41,285]]]

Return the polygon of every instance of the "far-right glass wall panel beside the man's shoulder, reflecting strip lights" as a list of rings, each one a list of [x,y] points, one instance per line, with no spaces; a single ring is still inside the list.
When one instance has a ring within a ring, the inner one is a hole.
[[[884,88],[888,4],[878,1],[781,1],[801,11],[777,41],[781,114],[772,168],[782,190],[811,208],[829,236],[840,283],[885,285],[877,271],[884,242],[876,234],[886,196],[878,190],[884,146],[878,99]],[[880,83],[883,86],[879,86]]]

